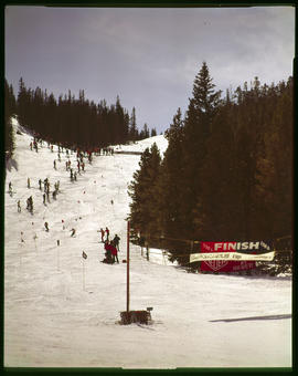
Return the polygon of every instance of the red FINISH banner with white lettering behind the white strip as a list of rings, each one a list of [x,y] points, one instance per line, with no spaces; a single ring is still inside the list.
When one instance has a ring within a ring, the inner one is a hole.
[[[236,252],[240,248],[240,243],[236,241],[215,242],[215,241],[202,241],[201,252]],[[254,246],[254,243],[253,243]],[[249,244],[248,244],[249,247]],[[209,260],[201,262],[201,271],[209,272],[236,272],[241,270],[254,269],[256,267],[255,261],[226,261],[226,260]]]

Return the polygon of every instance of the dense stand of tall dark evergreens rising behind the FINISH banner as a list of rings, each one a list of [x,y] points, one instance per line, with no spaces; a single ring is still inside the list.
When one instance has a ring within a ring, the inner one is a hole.
[[[292,77],[269,86],[255,77],[223,96],[203,62],[184,116],[178,108],[166,132],[163,158],[152,145],[134,175],[132,236],[183,264],[183,240],[291,234],[292,119]]]

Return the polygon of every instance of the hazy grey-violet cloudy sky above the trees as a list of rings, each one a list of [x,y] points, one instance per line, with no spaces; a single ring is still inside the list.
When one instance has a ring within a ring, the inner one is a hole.
[[[205,61],[216,88],[292,74],[295,9],[6,8],[6,77],[18,93],[46,88],[108,105],[119,95],[137,124],[167,129],[184,112]]]

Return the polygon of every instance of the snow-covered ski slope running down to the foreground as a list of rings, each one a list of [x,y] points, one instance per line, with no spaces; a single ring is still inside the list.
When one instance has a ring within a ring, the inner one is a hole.
[[[65,152],[58,161],[56,146],[51,153],[44,143],[35,153],[30,142],[25,133],[17,134],[18,170],[10,164],[6,179],[4,366],[291,366],[288,278],[187,273],[158,254],[148,262],[140,248],[130,244],[130,310],[152,306],[152,324],[119,325],[120,311],[126,310],[127,265],[121,261],[126,259],[127,186],[140,156],[94,157],[72,182]],[[163,136],[123,148],[143,150],[153,142],[166,150]],[[75,154],[70,157],[76,167]],[[45,177],[51,190],[57,180],[61,187],[57,199],[51,197],[46,206],[38,184]],[[29,196],[33,216],[25,210]],[[106,226],[111,237],[118,233],[121,239],[119,264],[100,262],[98,230]]]

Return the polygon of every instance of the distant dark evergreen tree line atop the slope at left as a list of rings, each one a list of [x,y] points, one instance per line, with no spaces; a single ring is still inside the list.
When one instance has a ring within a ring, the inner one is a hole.
[[[147,124],[141,130],[138,129],[136,108],[132,108],[129,116],[127,109],[121,106],[119,96],[116,103],[109,106],[105,100],[98,104],[86,100],[84,90],[79,91],[78,98],[68,91],[67,95],[60,95],[56,100],[53,93],[47,94],[46,90],[28,88],[22,79],[19,81],[17,100],[12,86],[6,81],[8,128],[12,114],[17,114],[19,124],[31,129],[38,137],[83,150],[126,144],[157,135],[156,128],[150,133]],[[6,145],[6,148],[9,148],[9,139]]]

